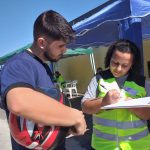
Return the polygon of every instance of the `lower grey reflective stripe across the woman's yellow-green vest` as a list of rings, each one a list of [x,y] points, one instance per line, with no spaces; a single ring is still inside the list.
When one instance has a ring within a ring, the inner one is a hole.
[[[117,135],[101,132],[99,130],[96,130],[95,128],[93,128],[93,133],[99,138],[103,138],[103,139],[110,140],[110,141],[116,141],[117,139],[119,139],[119,141],[125,141],[125,140],[134,141],[134,140],[139,140],[143,137],[146,137],[149,131],[146,129],[134,135],[121,136],[121,137],[120,136],[118,137]]]

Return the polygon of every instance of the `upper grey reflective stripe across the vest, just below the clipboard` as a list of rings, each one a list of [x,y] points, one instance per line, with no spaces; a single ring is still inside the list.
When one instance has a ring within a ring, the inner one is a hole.
[[[118,122],[116,120],[97,118],[96,116],[93,116],[93,122],[103,126],[117,127],[119,129],[138,128],[138,127],[143,127],[146,124],[146,121],[144,120],[137,120],[134,122]]]

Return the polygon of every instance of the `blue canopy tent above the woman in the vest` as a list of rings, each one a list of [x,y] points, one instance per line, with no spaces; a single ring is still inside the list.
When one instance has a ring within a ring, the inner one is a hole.
[[[150,39],[149,0],[110,0],[72,22],[77,39],[71,48],[108,45],[120,38],[142,48]]]

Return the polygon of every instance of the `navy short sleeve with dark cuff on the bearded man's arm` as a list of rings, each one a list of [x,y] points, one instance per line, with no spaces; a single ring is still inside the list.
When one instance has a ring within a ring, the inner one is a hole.
[[[7,92],[16,86],[35,85],[35,70],[30,62],[26,60],[14,60],[6,64],[1,72],[1,95],[2,101]]]

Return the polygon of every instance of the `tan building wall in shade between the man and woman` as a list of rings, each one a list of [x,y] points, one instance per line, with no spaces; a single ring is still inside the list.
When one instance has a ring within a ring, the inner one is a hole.
[[[85,87],[93,75],[88,55],[62,59],[58,63],[58,70],[66,81],[78,80],[77,89],[79,93],[84,93]]]

